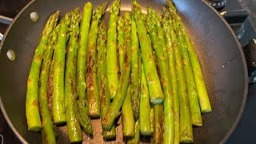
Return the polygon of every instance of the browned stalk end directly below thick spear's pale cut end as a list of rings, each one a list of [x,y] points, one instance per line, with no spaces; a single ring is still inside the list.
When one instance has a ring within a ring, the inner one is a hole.
[[[163,105],[162,104],[155,104],[154,105],[154,136],[153,142],[155,144],[162,144],[163,143]]]

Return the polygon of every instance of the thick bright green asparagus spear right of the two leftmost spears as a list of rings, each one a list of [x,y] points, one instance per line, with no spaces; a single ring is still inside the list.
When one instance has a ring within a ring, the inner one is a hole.
[[[66,34],[70,25],[70,12],[60,23],[58,40],[55,48],[54,76],[53,76],[53,115],[56,124],[66,122],[66,108],[64,97],[64,71],[66,56]]]

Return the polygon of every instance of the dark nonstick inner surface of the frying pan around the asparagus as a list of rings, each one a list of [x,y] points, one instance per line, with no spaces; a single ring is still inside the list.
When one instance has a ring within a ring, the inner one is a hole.
[[[92,1],[95,7],[106,1]],[[151,6],[159,13],[165,1],[140,0],[142,11]],[[41,134],[27,130],[25,102],[26,80],[38,45],[41,32],[47,18],[56,10],[61,16],[77,6],[82,7],[85,1],[56,0],[34,1],[18,14],[18,18],[7,30],[2,42],[0,55],[0,96],[1,108],[14,133],[22,142],[42,142]],[[109,1],[109,7],[112,1]],[[210,96],[213,112],[203,115],[203,126],[194,128],[195,143],[225,142],[230,136],[242,114],[247,95],[246,62],[242,48],[230,27],[205,2],[198,0],[174,0],[182,22],[194,43],[202,66],[202,73]],[[130,11],[131,1],[122,1],[121,11]],[[108,21],[109,7],[103,20]],[[30,20],[31,12],[38,12],[38,22]],[[121,13],[123,14],[123,13]],[[11,62],[6,53],[14,50],[16,60]],[[84,142],[102,143],[101,126],[94,123],[94,139],[84,135]],[[117,142],[122,142],[122,126],[118,126]],[[59,129],[58,143],[68,143],[65,127]]]

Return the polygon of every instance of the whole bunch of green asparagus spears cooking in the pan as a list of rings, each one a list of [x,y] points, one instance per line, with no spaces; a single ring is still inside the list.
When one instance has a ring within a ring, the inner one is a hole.
[[[154,143],[194,142],[192,128],[202,126],[211,106],[173,2],[166,0],[160,15],[150,7],[142,14],[133,1],[122,17],[114,0],[108,30],[106,8],[102,3],[92,14],[86,2],[80,27],[78,8],[59,23],[59,11],[50,16],[27,81],[28,130],[42,130],[43,143],[56,143],[54,127],[66,123],[70,142],[82,142],[82,130],[94,135],[90,118],[101,118],[103,138],[112,140],[122,114],[127,143],[141,135]]]

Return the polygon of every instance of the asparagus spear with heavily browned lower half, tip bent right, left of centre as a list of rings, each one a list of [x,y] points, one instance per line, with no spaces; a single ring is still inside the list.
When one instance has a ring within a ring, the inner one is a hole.
[[[93,118],[100,116],[100,100],[98,95],[98,82],[96,75],[96,43],[98,34],[98,24],[102,15],[105,14],[107,2],[98,6],[90,25],[88,54],[86,60],[86,83],[87,83],[87,99],[89,101],[89,113]]]

